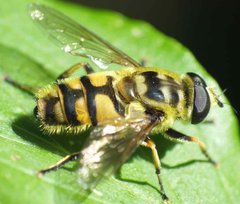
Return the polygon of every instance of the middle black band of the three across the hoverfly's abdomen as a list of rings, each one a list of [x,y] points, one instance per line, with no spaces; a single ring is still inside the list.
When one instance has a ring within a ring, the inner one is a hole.
[[[81,89],[71,89],[66,84],[58,84],[59,89],[63,95],[64,110],[68,123],[71,125],[79,125],[80,122],[77,120],[75,103],[83,97]]]

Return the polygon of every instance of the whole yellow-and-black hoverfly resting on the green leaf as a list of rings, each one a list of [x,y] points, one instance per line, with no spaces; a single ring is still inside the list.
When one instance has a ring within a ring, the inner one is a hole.
[[[157,149],[148,137],[152,132],[161,133],[171,140],[198,144],[208,161],[217,165],[203,142],[171,128],[177,119],[198,124],[206,118],[212,105],[223,107],[202,77],[195,73],[178,75],[160,68],[143,67],[52,8],[31,4],[30,15],[63,51],[87,57],[97,65],[114,63],[125,67],[118,71],[94,73],[89,64],[81,62],[63,72],[54,84],[40,89],[6,78],[19,88],[36,92],[34,114],[47,132],[65,130],[78,134],[92,128],[81,151],[40,170],[38,175],[79,159],[80,185],[91,189],[142,145],[152,151],[160,194],[163,202],[169,203],[161,180]],[[71,77],[80,68],[84,68],[87,75]]]

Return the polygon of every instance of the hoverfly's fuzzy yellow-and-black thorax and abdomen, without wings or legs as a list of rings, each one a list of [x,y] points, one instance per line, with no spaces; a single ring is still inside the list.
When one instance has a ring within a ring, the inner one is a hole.
[[[163,131],[176,118],[191,120],[194,91],[188,87],[194,82],[190,76],[138,67],[61,79],[38,91],[35,113],[46,130],[58,131],[61,125],[77,130],[81,125],[155,111],[164,117],[159,127]],[[207,114],[210,101],[204,105]]]

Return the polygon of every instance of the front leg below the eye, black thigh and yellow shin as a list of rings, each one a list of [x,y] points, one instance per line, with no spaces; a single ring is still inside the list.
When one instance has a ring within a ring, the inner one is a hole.
[[[218,163],[216,161],[214,161],[211,158],[211,156],[208,154],[207,149],[206,149],[206,145],[201,140],[199,140],[198,138],[184,135],[184,134],[182,134],[182,133],[180,133],[176,130],[173,130],[173,129],[169,129],[165,133],[167,134],[167,136],[170,137],[170,139],[177,140],[177,141],[183,141],[183,142],[194,142],[194,143],[198,144],[202,153],[206,156],[208,161],[210,163],[212,163],[214,166],[216,166],[216,167],[218,166]]]

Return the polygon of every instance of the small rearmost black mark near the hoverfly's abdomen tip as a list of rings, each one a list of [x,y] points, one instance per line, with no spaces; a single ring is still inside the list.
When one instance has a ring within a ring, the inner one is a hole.
[[[59,101],[58,97],[52,97],[46,99],[46,107],[45,107],[45,122],[49,125],[56,124],[54,106]]]

